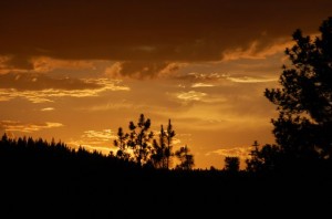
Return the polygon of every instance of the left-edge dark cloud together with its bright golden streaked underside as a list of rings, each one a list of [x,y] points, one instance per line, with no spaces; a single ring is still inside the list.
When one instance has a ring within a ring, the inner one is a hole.
[[[110,79],[52,79],[40,74],[0,75],[0,101],[27,98],[32,103],[53,102],[54,97],[98,96],[105,91],[129,91],[120,80]]]

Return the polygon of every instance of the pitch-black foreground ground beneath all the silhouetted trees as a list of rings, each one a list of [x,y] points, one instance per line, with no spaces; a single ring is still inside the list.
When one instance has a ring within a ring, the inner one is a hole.
[[[331,173],[154,170],[0,153],[0,218],[325,218]]]

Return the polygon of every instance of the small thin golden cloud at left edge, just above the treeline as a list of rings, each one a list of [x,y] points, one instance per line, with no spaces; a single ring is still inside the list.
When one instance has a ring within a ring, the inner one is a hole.
[[[18,121],[1,121],[0,122],[0,129],[4,132],[22,132],[22,133],[32,133],[42,129],[62,127],[63,124],[61,123],[22,123]]]

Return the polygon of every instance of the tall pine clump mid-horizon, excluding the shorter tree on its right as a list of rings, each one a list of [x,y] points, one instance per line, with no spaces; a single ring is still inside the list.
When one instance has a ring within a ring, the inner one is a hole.
[[[154,133],[149,132],[151,124],[151,119],[141,114],[137,124],[129,122],[128,134],[120,127],[117,138],[113,142],[113,145],[118,147],[116,157],[124,160],[134,160],[139,166],[148,165],[155,168],[169,169],[174,156],[172,149],[175,136],[170,119],[168,119],[166,131],[160,125],[157,139],[154,138]],[[110,156],[113,156],[112,152]]]

